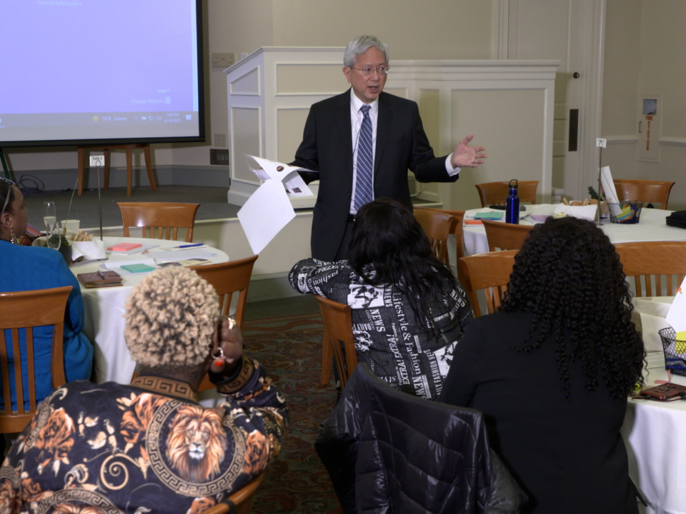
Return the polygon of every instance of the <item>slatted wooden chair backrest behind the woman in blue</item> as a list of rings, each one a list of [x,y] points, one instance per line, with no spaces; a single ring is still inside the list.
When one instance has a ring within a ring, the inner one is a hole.
[[[52,388],[59,388],[66,383],[64,375],[64,351],[62,338],[64,332],[64,312],[66,301],[71,293],[71,286],[38,291],[21,291],[19,293],[0,293],[0,373],[2,373],[2,390],[4,410],[0,413],[0,433],[21,432],[29,424],[36,412],[36,370],[34,369],[33,328],[53,326],[50,373]],[[21,350],[19,346],[19,329],[26,332],[26,370],[27,381],[24,383],[21,373]],[[11,343],[5,339],[5,331],[11,330]],[[16,392],[16,413],[12,412],[11,391],[9,383],[8,348],[12,346],[14,360],[14,390]],[[39,370],[45,373],[46,370]],[[24,408],[24,391],[28,390],[29,410]]]

